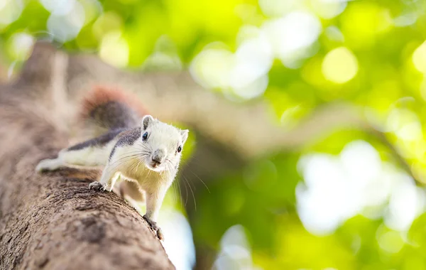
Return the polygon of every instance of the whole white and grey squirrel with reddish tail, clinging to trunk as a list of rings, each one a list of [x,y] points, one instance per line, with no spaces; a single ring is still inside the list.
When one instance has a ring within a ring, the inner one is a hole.
[[[118,193],[143,202],[143,218],[160,240],[156,224],[165,193],[178,172],[182,149],[189,131],[145,114],[137,98],[120,90],[95,87],[83,100],[81,118],[106,132],[94,139],[60,150],[57,158],[38,163],[38,172],[63,166],[104,166],[99,182],[90,189],[111,192],[116,180],[124,179]],[[115,190],[114,190],[115,191]]]

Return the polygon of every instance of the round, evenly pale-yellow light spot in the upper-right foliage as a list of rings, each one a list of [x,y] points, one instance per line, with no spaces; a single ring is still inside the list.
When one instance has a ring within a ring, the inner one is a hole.
[[[347,48],[336,48],[325,55],[322,73],[327,80],[342,84],[352,80],[358,72],[358,61]]]

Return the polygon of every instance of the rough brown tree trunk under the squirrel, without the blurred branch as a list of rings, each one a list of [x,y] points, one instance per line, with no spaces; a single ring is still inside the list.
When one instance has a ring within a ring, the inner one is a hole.
[[[0,87],[0,269],[174,269],[136,210],[89,190],[99,170],[35,172],[68,144],[63,56],[41,45]]]

